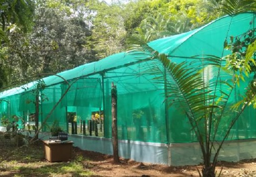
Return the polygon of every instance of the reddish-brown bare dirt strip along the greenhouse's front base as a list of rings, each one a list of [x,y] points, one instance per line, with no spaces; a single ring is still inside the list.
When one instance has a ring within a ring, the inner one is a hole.
[[[98,177],[199,177],[197,169],[202,166],[166,166],[121,159],[113,163],[113,157],[96,152],[74,148],[74,155],[82,155],[86,160],[85,168]],[[222,177],[256,177],[256,159],[240,162],[219,162],[217,173],[222,169]]]

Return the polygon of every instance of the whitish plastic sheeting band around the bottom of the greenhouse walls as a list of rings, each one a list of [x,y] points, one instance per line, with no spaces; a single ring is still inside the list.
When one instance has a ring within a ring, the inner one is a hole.
[[[24,133],[29,135],[28,132]],[[50,133],[42,132],[39,137],[49,139]],[[74,146],[82,150],[113,154],[111,139],[83,135],[69,135],[68,139],[74,141]],[[220,151],[218,160],[236,162],[242,159],[256,158],[255,144],[256,139],[226,141]],[[119,140],[118,146],[120,157],[138,162],[169,164],[172,166],[195,165],[202,162],[198,143],[172,143],[169,148],[171,151],[169,162],[168,146],[163,143]]]

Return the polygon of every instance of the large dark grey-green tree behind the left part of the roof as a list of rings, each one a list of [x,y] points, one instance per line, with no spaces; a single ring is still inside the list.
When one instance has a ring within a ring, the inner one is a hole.
[[[66,4],[54,2],[38,2],[31,33],[23,34],[19,29],[10,33],[2,61],[10,84],[95,60],[90,46],[92,32],[85,17]]]

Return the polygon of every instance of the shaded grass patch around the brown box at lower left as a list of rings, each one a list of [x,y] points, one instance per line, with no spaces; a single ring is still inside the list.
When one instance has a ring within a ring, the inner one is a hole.
[[[0,133],[0,177],[81,177],[92,176],[84,166],[83,156],[76,156],[70,162],[50,163],[44,159],[43,144],[16,148]]]

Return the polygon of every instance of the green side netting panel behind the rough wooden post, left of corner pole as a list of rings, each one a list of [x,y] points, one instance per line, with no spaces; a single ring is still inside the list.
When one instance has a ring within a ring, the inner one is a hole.
[[[117,85],[117,129],[119,139],[166,142],[164,90],[141,74],[146,61],[105,74],[105,137],[111,138],[111,83]],[[124,71],[125,70],[125,71]]]

